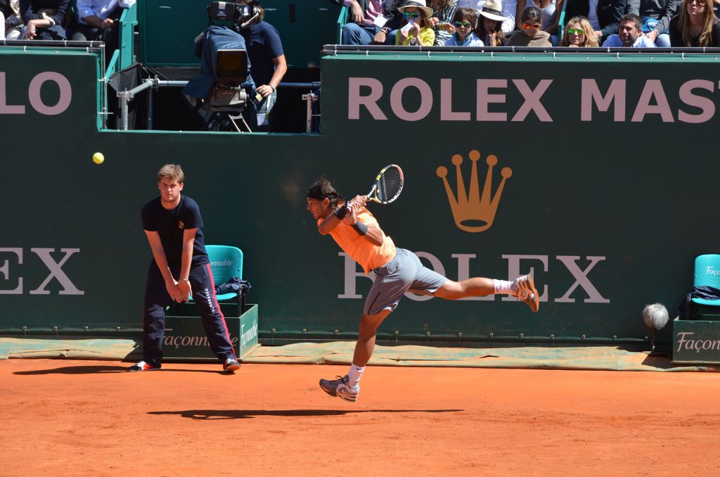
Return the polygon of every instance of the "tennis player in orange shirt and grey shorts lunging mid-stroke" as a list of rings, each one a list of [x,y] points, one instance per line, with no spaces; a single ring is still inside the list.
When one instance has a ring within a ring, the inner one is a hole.
[[[377,328],[395,310],[405,292],[433,295],[446,300],[496,293],[513,295],[536,313],[539,295],[533,278],[523,275],[512,282],[490,278],[448,280],[420,263],[413,252],[398,249],[365,208],[367,198],[357,195],[345,204],[332,184],[321,177],[307,191],[307,210],[318,221],[320,235],[330,234],[341,249],[363,267],[375,273],[375,281],[365,300],[358,342],[348,374],[335,380],[320,380],[320,388],[345,401],[355,402],[360,378],[375,348]],[[349,209],[349,212],[348,212]]]

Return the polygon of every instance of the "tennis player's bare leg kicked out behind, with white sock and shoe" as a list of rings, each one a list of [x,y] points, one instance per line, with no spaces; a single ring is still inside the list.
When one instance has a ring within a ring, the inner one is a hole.
[[[436,297],[445,298],[446,300],[459,300],[471,296],[494,294],[516,296],[518,300],[529,306],[533,313],[538,311],[540,296],[531,275],[523,275],[512,282],[481,277],[468,278],[460,282],[447,280],[433,293]]]

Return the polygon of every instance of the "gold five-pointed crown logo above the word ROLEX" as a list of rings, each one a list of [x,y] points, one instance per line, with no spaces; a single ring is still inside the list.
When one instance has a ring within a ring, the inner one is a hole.
[[[495,192],[495,195],[492,195],[492,168],[498,164],[498,158],[492,155],[487,156],[485,158],[485,162],[487,163],[487,176],[485,177],[485,185],[482,187],[481,197],[477,179],[477,161],[480,159],[480,151],[470,151],[469,158],[472,162],[472,169],[470,172],[470,188],[468,192],[465,191],[465,182],[462,177],[462,169],[460,168],[463,162],[463,157],[460,154],[452,156],[452,163],[455,164],[457,177],[457,197],[453,195],[447,179],[448,169],[445,166],[440,166],[437,169],[437,174],[438,177],[443,179],[445,184],[445,192],[447,192],[448,195],[455,225],[458,226],[460,230],[466,232],[482,232],[492,227],[492,220],[495,220],[495,212],[498,210],[500,197],[503,195],[505,180],[513,175],[513,169],[503,167],[503,170],[500,171],[503,179],[500,181],[500,186]]]

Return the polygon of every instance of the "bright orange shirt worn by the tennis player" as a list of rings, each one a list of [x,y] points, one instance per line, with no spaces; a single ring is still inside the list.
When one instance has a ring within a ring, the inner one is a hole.
[[[377,220],[373,217],[372,213],[366,208],[361,208],[358,214],[358,220],[364,223],[366,226],[378,227]],[[323,219],[318,220],[318,226]],[[382,267],[387,262],[390,262],[395,258],[395,244],[392,239],[385,236],[382,241],[382,245],[377,246],[366,241],[359,233],[355,231],[352,226],[341,222],[338,223],[336,228],[330,232],[330,236],[335,239],[341,249],[348,254],[352,259],[360,264],[365,270],[367,275],[370,270],[377,267]]]

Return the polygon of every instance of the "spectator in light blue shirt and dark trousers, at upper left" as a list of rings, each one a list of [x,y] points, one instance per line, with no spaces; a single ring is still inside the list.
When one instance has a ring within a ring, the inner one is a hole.
[[[122,9],[135,5],[135,0],[78,0],[78,25],[70,37],[73,41],[102,41],[109,61],[117,48],[118,20]]]

